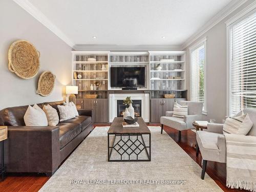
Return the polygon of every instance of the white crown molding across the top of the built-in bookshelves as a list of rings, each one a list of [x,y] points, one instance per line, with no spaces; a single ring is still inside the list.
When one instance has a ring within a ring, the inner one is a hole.
[[[171,45],[75,45],[74,50],[76,51],[180,51],[181,46]]]

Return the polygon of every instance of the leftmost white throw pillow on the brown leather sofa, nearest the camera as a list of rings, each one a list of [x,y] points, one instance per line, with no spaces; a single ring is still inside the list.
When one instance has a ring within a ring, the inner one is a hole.
[[[29,105],[25,115],[24,121],[26,126],[47,126],[48,121],[44,111],[37,104],[33,108]]]

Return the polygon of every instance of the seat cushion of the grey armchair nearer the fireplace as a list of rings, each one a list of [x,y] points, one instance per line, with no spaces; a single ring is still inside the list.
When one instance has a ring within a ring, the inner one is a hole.
[[[160,122],[179,131],[186,130],[186,123],[183,121],[183,118],[163,116],[160,118]]]

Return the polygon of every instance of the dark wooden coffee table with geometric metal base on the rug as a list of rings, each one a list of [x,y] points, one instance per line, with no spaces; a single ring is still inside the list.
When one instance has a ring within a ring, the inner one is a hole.
[[[108,131],[108,161],[151,161],[151,132],[142,117],[138,117],[139,127],[122,126],[123,118],[116,117]],[[112,143],[110,136],[114,135]],[[148,136],[148,145],[145,144],[144,136]],[[118,140],[117,137],[118,136]],[[111,159],[112,151],[115,150],[120,155],[120,159]],[[145,150],[147,159],[139,159],[141,152]],[[123,159],[122,156],[129,159]],[[136,156],[131,159],[130,156]]]

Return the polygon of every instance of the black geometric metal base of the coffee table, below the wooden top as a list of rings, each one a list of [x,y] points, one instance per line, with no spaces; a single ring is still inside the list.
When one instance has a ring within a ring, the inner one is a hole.
[[[110,135],[114,135],[114,140],[110,145]],[[148,145],[145,144],[143,135],[148,136]],[[120,137],[117,140],[117,137]],[[134,139],[135,138],[135,139]],[[120,155],[120,159],[111,159],[113,150]],[[139,159],[141,153],[145,151],[147,159]],[[128,159],[123,159],[123,156]],[[131,156],[136,157],[131,159]],[[151,161],[151,134],[109,134],[108,133],[108,161]]]

